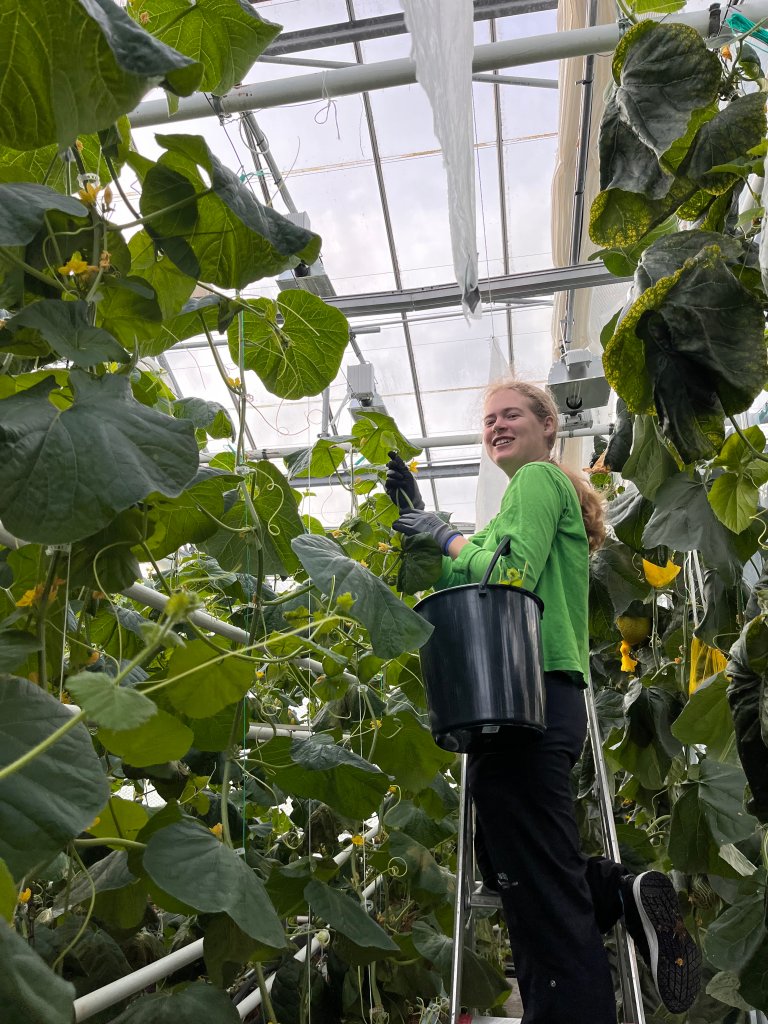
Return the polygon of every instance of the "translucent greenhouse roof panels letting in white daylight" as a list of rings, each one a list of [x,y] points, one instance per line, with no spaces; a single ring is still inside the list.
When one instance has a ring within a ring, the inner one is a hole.
[[[605,11],[597,7],[599,20],[612,20],[607,4]],[[561,5],[561,23],[567,9]],[[282,25],[284,34],[244,85],[316,77],[325,68],[332,74],[339,67],[411,53],[398,0],[264,0],[258,10]],[[558,30],[553,0],[476,0],[475,18],[476,46]],[[565,27],[580,24],[583,12]],[[564,79],[563,68],[559,71],[560,81],[573,83],[565,96],[558,89],[558,63],[572,66]],[[429,506],[451,510],[455,521],[475,521],[480,447],[466,441],[478,429],[483,387],[507,366],[526,380],[546,381],[557,354],[553,336],[559,341],[557,325],[563,316],[562,307],[553,311],[551,287],[519,295],[514,290],[508,294],[503,286],[509,275],[580,262],[563,256],[572,248],[584,67],[581,56],[538,62],[508,69],[501,74],[501,85],[488,81],[488,74],[473,83],[476,239],[484,301],[481,315],[472,319],[465,317],[455,285],[441,150],[420,85],[237,114],[222,113],[210,97],[210,117],[203,121],[174,118],[170,125],[134,127],[140,151],[150,157],[161,152],[156,131],[202,132],[219,160],[261,202],[282,213],[292,208],[305,213],[323,238],[321,294],[332,302],[334,295],[343,297],[340,304],[353,331],[347,357],[330,387],[331,419],[324,420],[323,395],[282,400],[249,373],[247,439],[252,450],[273,456],[274,450],[306,447],[323,433],[324,424],[331,432],[348,433],[347,368],[365,359],[373,365],[386,412],[407,436],[458,435],[463,441],[425,450],[421,462],[430,482],[422,489]],[[593,127],[600,103],[597,90]],[[561,181],[553,188],[558,163]],[[594,178],[591,165],[597,161],[588,164]],[[553,236],[564,247],[559,258],[553,257]],[[588,252],[582,247],[581,262]],[[440,304],[430,300],[426,307],[412,309],[414,290],[434,286],[450,286],[442,290],[447,295]],[[600,323],[585,328],[587,344],[597,340],[595,329],[599,333],[626,288],[596,291],[612,298],[600,303]],[[261,281],[245,294],[274,297],[278,292],[276,282]],[[372,312],[375,298],[379,301]],[[582,316],[590,319],[584,310]],[[227,372],[237,376],[223,341],[220,355]],[[180,343],[165,358],[184,395],[230,401],[205,338]],[[595,422],[607,418],[603,410]],[[349,496],[342,488],[315,489],[311,509],[304,511],[331,521],[348,510]]]

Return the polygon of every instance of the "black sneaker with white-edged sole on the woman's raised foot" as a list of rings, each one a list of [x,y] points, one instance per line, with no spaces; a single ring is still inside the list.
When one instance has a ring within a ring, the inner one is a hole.
[[[643,871],[622,890],[627,931],[662,1002],[670,1013],[685,1013],[701,986],[701,953],[683,924],[675,887],[660,871]]]

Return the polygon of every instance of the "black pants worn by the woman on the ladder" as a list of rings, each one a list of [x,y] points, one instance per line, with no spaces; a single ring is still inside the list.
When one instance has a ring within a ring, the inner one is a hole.
[[[570,772],[584,745],[584,694],[548,673],[547,731],[509,751],[469,755],[475,850],[500,890],[524,1024],[615,1024],[601,932],[623,912],[626,868],[580,849]]]

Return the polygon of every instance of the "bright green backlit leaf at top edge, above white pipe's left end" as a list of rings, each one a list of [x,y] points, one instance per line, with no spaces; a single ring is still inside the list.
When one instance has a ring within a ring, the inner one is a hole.
[[[203,65],[198,88],[223,96],[242,82],[281,27],[243,0],[134,0],[130,13],[153,36]]]

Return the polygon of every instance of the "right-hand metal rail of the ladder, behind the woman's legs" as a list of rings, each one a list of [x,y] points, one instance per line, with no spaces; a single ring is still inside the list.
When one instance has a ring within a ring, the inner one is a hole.
[[[613,791],[608,778],[605,757],[603,756],[600,723],[597,719],[595,691],[591,678],[587,681],[584,699],[587,706],[587,727],[590,745],[592,746],[592,756],[595,762],[595,788],[597,791],[597,802],[600,810],[603,847],[607,857],[620,862],[618,838],[613,820]],[[645,1010],[643,1008],[635,945],[623,923],[620,922],[616,925],[615,933],[624,1020],[626,1024],[645,1024]]]

